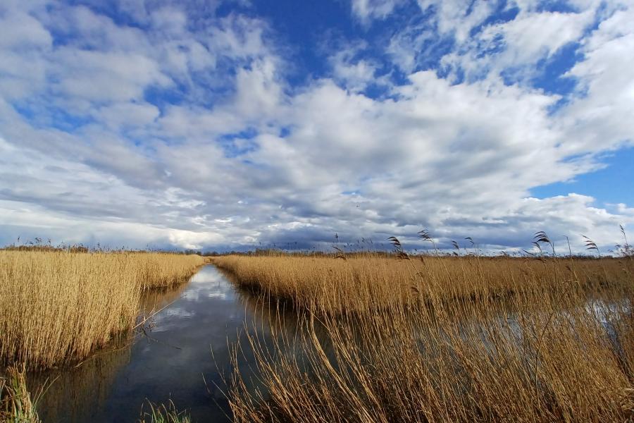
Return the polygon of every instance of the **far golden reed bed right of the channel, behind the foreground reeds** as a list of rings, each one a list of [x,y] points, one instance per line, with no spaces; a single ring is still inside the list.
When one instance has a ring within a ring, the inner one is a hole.
[[[634,271],[633,262],[624,259],[230,255],[212,262],[244,288],[329,314],[534,290],[592,292],[604,285],[627,285]]]

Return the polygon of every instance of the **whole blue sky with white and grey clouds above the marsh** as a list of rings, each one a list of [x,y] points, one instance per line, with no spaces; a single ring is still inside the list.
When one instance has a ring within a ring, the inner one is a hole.
[[[632,22],[631,0],[3,0],[0,245],[609,249],[634,238]]]

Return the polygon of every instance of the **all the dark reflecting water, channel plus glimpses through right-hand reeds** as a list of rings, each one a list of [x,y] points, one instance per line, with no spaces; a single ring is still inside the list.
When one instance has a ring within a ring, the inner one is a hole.
[[[618,320],[609,318],[612,313],[606,304],[618,305],[617,309],[630,307],[629,303],[623,305],[614,299],[588,300],[589,309],[610,324],[618,324]],[[283,348],[278,349],[280,355],[271,358],[299,363],[309,370],[304,375],[310,378],[310,364],[303,361],[306,353],[315,346],[306,339],[308,319],[295,310],[268,306],[235,288],[228,276],[211,265],[201,269],[187,285],[147,293],[142,300],[142,314],[147,316],[152,311],[161,311],[144,324],[145,333],[137,335],[134,342],[117,350],[98,353],[74,369],[31,376],[30,380],[35,381],[32,386],[37,386],[46,377],[58,378],[42,398],[38,407],[40,415],[44,423],[135,422],[146,399],[154,403],[166,403],[171,399],[179,410],[188,410],[193,422],[228,421],[231,412],[223,394],[226,390],[223,375],[230,379],[234,370],[231,358],[235,345],[242,346],[238,364],[242,380],[247,384],[245,388],[251,393],[256,389],[263,390],[258,378],[254,377],[256,375],[249,374],[257,369],[257,365],[248,348],[245,329],[249,333],[257,332],[256,339],[265,350],[273,340],[278,341]],[[511,303],[498,300],[496,307],[487,309],[487,313],[491,315],[476,316],[466,309],[465,314],[446,318],[461,322],[459,327],[466,335],[477,332],[485,345],[489,345],[490,333],[500,333],[502,329],[516,339],[518,346],[523,343],[526,328],[520,327]],[[548,310],[545,310],[547,314]],[[623,315],[623,310],[616,310],[614,314]],[[485,330],[487,326],[483,326],[483,319],[490,321],[491,330]],[[390,321],[385,321],[381,326],[390,325]],[[361,349],[373,342],[372,337],[363,340],[368,333],[356,333],[354,317],[338,321],[333,327],[343,326],[348,328],[349,341],[361,345]],[[421,353],[428,357],[436,354],[430,350],[433,345],[423,342],[430,338],[431,329],[417,326],[415,335],[420,341]],[[320,348],[337,367],[329,331],[320,324],[316,324],[314,331]],[[263,396],[266,398],[266,394]]]

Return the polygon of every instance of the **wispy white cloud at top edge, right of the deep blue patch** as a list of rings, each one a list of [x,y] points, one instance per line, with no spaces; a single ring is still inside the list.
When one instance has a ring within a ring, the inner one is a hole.
[[[477,80],[506,72],[521,82],[535,76],[538,61],[549,59],[569,43],[578,42],[594,22],[600,6],[588,2],[564,13],[540,10],[535,1],[516,1],[506,5],[506,11],[512,6],[518,8],[515,18],[488,22],[487,18],[499,7],[495,2],[475,1],[468,6],[461,1],[420,0],[418,4],[421,9],[433,12],[437,33],[423,32],[416,39],[424,41],[440,35],[453,40],[456,48],[445,54],[441,63],[452,70],[454,78],[464,74],[467,80]],[[416,58],[398,48],[404,36],[411,38],[406,31],[392,37],[392,51],[397,63],[411,70]]]

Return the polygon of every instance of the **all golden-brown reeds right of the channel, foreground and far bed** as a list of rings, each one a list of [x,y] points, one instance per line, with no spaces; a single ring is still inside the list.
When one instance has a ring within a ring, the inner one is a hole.
[[[214,259],[302,328],[273,312],[273,345],[235,349],[261,372],[232,376],[236,421],[634,418],[631,257],[403,256]]]

